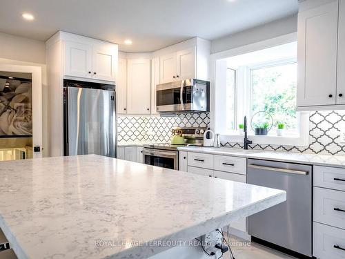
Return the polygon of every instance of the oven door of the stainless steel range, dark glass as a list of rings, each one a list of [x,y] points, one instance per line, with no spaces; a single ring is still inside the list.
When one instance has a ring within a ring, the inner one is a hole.
[[[159,166],[168,169],[177,170],[178,161],[177,151],[164,151],[152,148],[144,148],[144,164],[150,164],[151,166]]]

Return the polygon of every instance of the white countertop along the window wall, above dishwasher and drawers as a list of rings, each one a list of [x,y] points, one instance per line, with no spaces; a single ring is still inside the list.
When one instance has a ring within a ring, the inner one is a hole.
[[[209,153],[213,155],[231,155],[237,157],[254,158],[261,160],[277,160],[301,164],[313,164],[319,166],[335,166],[345,168],[345,156],[343,155],[318,155],[310,153],[293,153],[282,151],[259,151],[255,149],[244,150],[241,148],[213,148],[186,146],[178,148],[179,151]]]

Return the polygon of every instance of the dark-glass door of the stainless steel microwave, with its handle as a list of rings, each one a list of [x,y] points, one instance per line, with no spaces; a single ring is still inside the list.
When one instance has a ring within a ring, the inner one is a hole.
[[[191,110],[193,86],[185,86],[181,82],[157,85],[156,105],[159,113]]]

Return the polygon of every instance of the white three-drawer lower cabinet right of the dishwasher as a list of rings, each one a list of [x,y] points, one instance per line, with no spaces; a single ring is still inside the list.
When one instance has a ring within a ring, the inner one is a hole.
[[[345,169],[314,166],[313,256],[345,258]]]

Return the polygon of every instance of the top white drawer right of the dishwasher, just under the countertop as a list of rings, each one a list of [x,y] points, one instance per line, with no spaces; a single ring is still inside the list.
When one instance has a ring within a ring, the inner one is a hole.
[[[345,169],[314,166],[314,186],[345,191]]]

